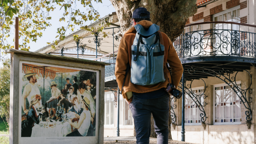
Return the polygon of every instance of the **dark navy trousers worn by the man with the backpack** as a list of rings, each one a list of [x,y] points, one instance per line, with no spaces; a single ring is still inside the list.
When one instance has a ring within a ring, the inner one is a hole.
[[[151,113],[155,122],[157,144],[168,144],[169,101],[169,95],[155,99],[132,98],[130,109],[134,119],[137,144],[149,144]]]

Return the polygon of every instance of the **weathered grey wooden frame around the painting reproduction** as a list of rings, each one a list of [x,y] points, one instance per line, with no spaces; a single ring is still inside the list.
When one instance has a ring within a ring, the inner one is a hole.
[[[99,107],[98,107],[98,136],[95,138],[84,137],[84,138],[69,138],[74,139],[71,143],[82,144],[103,144],[104,142],[104,79],[105,79],[105,65],[109,65],[105,62],[92,61],[86,59],[77,59],[56,55],[40,54],[35,52],[26,52],[16,49],[8,49],[4,51],[5,53],[11,53],[11,86],[10,86],[10,144],[20,143],[21,137],[19,137],[19,95],[20,95],[20,86],[19,86],[19,68],[20,61],[28,62],[38,62],[42,64],[52,64],[54,63],[57,66],[64,66],[69,68],[80,68],[88,70],[99,71]],[[48,139],[57,139],[58,143],[66,142],[66,139],[61,138],[48,138]],[[63,141],[64,140],[64,141]],[[67,140],[68,141],[68,140]],[[43,141],[45,143],[46,141]],[[34,143],[34,142],[33,142]],[[49,143],[50,142],[46,142]]]

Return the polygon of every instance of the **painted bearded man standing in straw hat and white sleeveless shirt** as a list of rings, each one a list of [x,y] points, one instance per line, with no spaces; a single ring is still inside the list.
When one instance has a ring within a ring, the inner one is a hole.
[[[27,78],[29,83],[24,87],[24,90],[22,93],[22,107],[23,107],[24,113],[28,114],[28,110],[26,108],[26,98],[30,102],[32,96],[40,95],[40,91],[39,91],[37,85],[35,85],[35,83],[37,82],[37,78],[39,78],[39,77],[38,77],[37,73],[35,73],[32,70],[27,70],[26,75],[24,75],[24,77]],[[31,105],[31,104],[29,103],[29,105]],[[40,99],[40,106],[42,106],[41,99]]]

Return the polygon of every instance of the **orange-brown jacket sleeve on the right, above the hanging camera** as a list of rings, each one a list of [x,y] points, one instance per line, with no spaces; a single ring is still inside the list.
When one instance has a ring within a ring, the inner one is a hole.
[[[172,42],[169,38],[168,38],[168,43],[169,43],[169,49],[168,49],[167,62],[169,63],[169,66],[172,69],[173,83],[175,85],[175,88],[177,88],[182,77],[183,67],[181,64],[181,60],[179,59],[177,52],[175,51],[175,48],[173,47]]]

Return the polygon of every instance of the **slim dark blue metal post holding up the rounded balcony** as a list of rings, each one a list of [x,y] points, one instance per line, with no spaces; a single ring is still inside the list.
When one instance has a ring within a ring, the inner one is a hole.
[[[182,118],[181,118],[181,141],[185,142],[185,66],[182,74]]]

